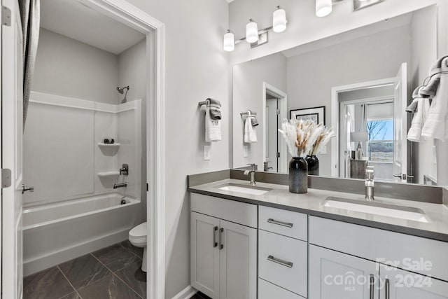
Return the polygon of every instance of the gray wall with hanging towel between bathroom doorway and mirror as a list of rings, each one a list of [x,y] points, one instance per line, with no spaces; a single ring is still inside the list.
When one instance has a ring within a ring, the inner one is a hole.
[[[190,284],[190,213],[187,174],[230,166],[230,64],[223,51],[228,29],[224,0],[128,0],[163,22],[165,40],[166,140],[166,298]],[[204,111],[207,97],[221,101],[223,140],[211,144],[204,161]],[[115,97],[116,99],[116,97]]]

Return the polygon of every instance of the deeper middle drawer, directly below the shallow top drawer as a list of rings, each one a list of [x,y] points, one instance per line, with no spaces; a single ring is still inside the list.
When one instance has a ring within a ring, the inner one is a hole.
[[[307,296],[307,242],[258,230],[258,277]]]

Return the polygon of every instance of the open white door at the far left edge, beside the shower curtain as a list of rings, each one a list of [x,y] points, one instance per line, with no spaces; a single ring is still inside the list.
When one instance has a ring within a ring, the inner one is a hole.
[[[1,291],[13,299],[22,298],[22,27],[18,1],[2,6],[10,25],[1,20],[1,168],[10,169],[11,184],[1,190]]]

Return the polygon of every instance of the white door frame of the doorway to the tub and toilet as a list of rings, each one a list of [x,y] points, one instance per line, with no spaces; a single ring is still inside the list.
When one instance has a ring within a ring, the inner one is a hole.
[[[151,186],[147,192],[151,275],[146,291],[148,298],[165,299],[165,25],[124,0],[77,1],[146,35],[146,169]]]

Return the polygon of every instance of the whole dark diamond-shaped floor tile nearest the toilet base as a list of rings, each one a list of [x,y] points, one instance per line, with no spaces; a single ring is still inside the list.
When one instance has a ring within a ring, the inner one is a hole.
[[[131,253],[118,244],[94,251],[92,254],[113,272],[123,269],[132,263],[137,262],[137,260],[140,260],[134,253]]]

